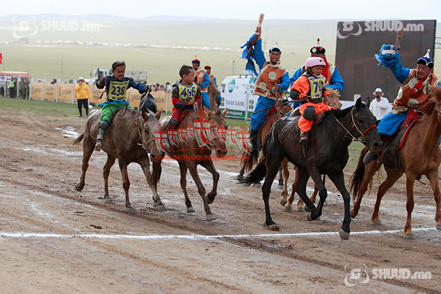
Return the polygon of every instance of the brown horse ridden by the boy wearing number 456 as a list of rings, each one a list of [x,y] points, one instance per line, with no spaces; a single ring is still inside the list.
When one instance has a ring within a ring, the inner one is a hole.
[[[179,135],[176,134],[176,132],[172,135],[172,138],[169,137],[159,142],[162,144],[161,148],[163,149],[163,152],[170,156],[170,158],[178,161],[179,169],[181,171],[181,188],[183,189],[185,196],[187,213],[195,211],[187,193],[186,176],[187,170],[189,170],[196,186],[198,187],[199,195],[202,197],[206,213],[205,219],[207,221],[216,220],[216,216],[211,212],[208,205],[214,202],[214,198],[217,195],[217,185],[219,180],[219,173],[216,171],[212,160],[212,151],[215,150],[216,156],[218,157],[227,154],[227,147],[225,145],[225,132],[228,129],[228,125],[225,123],[225,116],[227,113],[228,108],[225,108],[223,112],[218,108],[214,111],[205,108],[203,111],[198,111],[197,114],[196,110],[187,111],[185,118],[183,118],[177,126]],[[165,116],[159,120],[163,134],[166,133],[165,130],[170,122],[170,118],[171,116]],[[198,127],[194,128],[193,125],[195,124],[198,125]],[[209,124],[209,127],[207,124]],[[203,129],[204,125],[205,130]],[[185,129],[187,130],[186,132]],[[181,136],[181,138],[179,138],[179,136]],[[172,141],[171,144],[165,146],[169,144],[170,141]],[[162,158],[156,160],[154,166],[161,165],[161,160]],[[205,169],[207,169],[207,171],[213,176],[212,191],[207,195],[205,195],[205,187],[198,175],[198,165],[205,167]]]

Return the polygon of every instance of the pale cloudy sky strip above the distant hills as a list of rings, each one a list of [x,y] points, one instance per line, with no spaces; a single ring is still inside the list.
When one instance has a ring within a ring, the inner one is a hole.
[[[0,16],[10,14],[110,14],[119,17],[158,15],[216,17],[220,19],[437,19],[438,1],[426,0],[132,0],[132,1],[2,1]]]

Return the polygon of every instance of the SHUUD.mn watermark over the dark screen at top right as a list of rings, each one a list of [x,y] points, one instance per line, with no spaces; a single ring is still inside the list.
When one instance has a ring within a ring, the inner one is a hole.
[[[402,21],[342,21],[338,22],[337,37],[345,39],[348,36],[358,36],[362,32],[398,32],[400,25],[404,32],[424,32],[424,24],[407,23]]]

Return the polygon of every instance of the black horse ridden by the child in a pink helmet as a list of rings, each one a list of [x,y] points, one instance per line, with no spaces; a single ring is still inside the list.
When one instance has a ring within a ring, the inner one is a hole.
[[[265,138],[263,160],[245,178],[244,182],[251,185],[265,177],[262,186],[265,226],[270,230],[278,231],[279,227],[271,219],[268,200],[271,184],[283,158],[286,157],[298,168],[299,179],[296,192],[309,209],[308,220],[316,220],[322,214],[327,190],[320,175],[327,175],[334,182],[345,202],[345,218],[339,233],[340,238],[348,240],[351,231],[349,227],[351,198],[345,187],[343,175],[343,168],[349,159],[348,146],[352,140],[360,140],[371,151],[378,153],[382,147],[382,140],[376,129],[376,118],[361,102],[361,98],[358,98],[354,106],[346,109],[331,109],[325,112],[325,117],[320,124],[309,131],[309,145],[305,147],[298,142],[300,139],[299,117],[285,117],[274,123],[271,132]],[[306,194],[309,176],[318,187],[320,196],[318,207],[309,200]]]

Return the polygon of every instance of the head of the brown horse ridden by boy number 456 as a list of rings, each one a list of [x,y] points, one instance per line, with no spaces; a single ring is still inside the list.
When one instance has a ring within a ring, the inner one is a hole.
[[[219,108],[209,110],[205,109],[207,112],[207,118],[209,119],[209,125],[212,129],[215,129],[212,145],[213,149],[216,150],[216,156],[225,156],[227,154],[227,145],[225,144],[225,134],[228,129],[228,125],[225,122],[225,116],[228,113],[228,108],[221,111]]]

